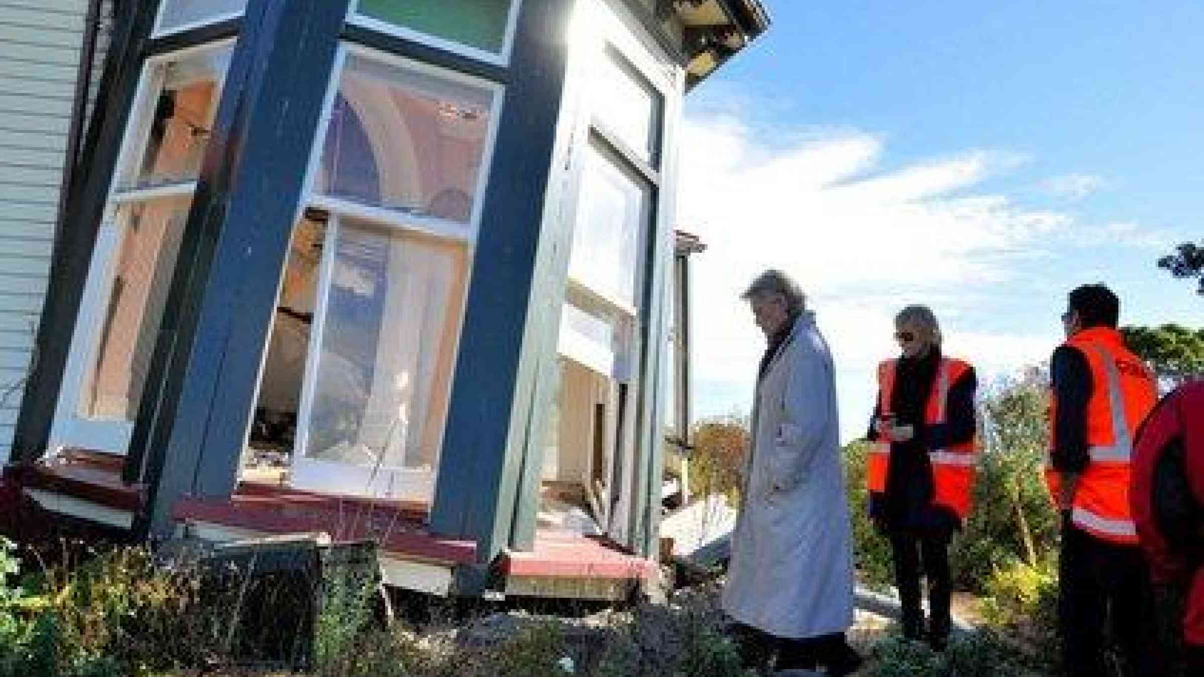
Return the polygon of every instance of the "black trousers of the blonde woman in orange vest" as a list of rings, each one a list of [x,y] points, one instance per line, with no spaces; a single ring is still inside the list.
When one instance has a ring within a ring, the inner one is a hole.
[[[895,560],[895,585],[903,607],[903,636],[923,637],[923,610],[920,606],[920,572],[928,579],[928,638],[944,644],[952,618],[949,613],[951,583],[949,575],[949,538],[944,530],[915,532],[891,531]]]

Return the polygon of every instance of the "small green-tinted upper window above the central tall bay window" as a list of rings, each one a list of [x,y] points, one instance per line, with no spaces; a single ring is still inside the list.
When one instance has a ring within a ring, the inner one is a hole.
[[[503,60],[519,0],[358,0],[352,18],[377,30]]]

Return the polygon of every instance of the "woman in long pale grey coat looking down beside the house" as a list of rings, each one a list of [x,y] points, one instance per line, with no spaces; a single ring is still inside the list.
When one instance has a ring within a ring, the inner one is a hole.
[[[861,658],[844,637],[852,624],[852,547],[832,355],[805,296],[783,272],[766,271],[742,298],[768,346],[724,610],[749,664],[774,647],[779,670],[820,665],[848,675]]]

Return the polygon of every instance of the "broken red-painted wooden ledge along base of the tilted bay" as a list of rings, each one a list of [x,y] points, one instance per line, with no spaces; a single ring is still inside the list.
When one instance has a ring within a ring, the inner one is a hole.
[[[69,452],[53,463],[14,469],[6,479],[48,513],[129,529],[146,491],[120,479],[120,463]],[[484,571],[495,590],[515,595],[614,599],[655,577],[653,560],[635,557],[596,536],[539,529],[530,552],[503,552],[478,563],[476,541],[431,534],[427,506],[373,501],[243,482],[230,498],[182,499],[172,510],[181,532],[211,541],[324,532],[334,541],[372,538],[380,543],[386,581],[400,587],[450,594],[462,571]],[[479,578],[479,576],[478,576]]]

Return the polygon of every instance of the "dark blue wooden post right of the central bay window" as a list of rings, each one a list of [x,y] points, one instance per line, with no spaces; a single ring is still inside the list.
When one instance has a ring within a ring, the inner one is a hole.
[[[571,0],[526,0],[509,64],[431,528],[476,538],[490,561],[509,540],[537,363],[524,351],[567,65]]]

